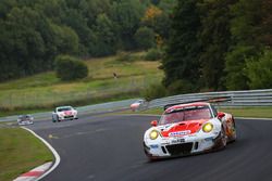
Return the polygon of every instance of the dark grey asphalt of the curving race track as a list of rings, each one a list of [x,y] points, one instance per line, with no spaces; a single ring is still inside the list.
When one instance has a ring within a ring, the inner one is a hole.
[[[42,181],[272,181],[272,120],[237,119],[220,152],[148,161],[143,135],[153,116],[96,115],[28,126],[61,156]]]

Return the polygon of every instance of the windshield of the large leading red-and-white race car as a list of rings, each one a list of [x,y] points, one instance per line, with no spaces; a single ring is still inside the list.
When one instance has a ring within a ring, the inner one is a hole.
[[[210,118],[212,118],[212,115],[209,106],[188,106],[170,109],[161,116],[159,125]]]

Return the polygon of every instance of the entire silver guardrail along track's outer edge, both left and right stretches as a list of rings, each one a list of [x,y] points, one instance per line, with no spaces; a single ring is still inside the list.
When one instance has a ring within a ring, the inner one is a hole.
[[[230,96],[231,100],[227,102],[218,103],[219,106],[225,107],[248,107],[248,106],[272,106],[272,89],[264,90],[250,90],[250,91],[223,91],[223,92],[206,92],[206,93],[190,93],[181,94],[174,96],[168,96],[162,99],[156,99],[149,103],[145,103],[144,109],[163,107],[166,104],[175,104],[188,101],[197,101],[220,96]],[[109,102],[102,104],[95,104],[78,107],[78,114],[90,114],[101,112],[112,112],[122,108],[129,108],[129,105],[138,99]],[[51,118],[51,112],[34,114],[35,118]],[[16,120],[17,116],[9,116],[0,118],[0,121]]]

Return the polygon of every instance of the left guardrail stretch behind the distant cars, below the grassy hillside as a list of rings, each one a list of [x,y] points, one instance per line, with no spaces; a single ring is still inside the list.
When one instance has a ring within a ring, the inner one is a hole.
[[[78,116],[85,115],[85,114],[91,114],[91,113],[113,112],[113,111],[119,111],[122,108],[128,108],[129,105],[137,100],[138,99],[132,99],[132,100],[125,100],[125,101],[87,105],[87,106],[76,107],[76,109],[78,111]],[[36,113],[32,115],[34,116],[34,119],[51,119],[52,112]],[[14,120],[17,120],[17,117],[18,115],[0,117],[0,121],[14,121]]]

